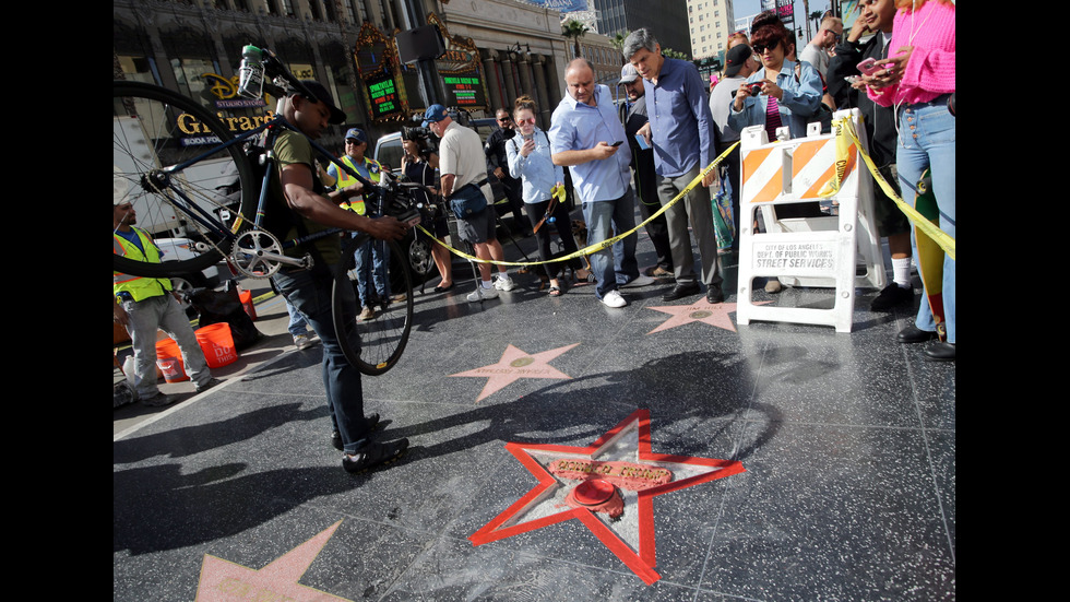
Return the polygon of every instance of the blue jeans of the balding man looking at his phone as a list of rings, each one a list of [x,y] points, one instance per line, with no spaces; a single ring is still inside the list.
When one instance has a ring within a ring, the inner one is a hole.
[[[631,187],[625,196],[613,201],[583,203],[583,219],[587,222],[587,245],[597,245],[607,238],[635,227],[635,194]],[[628,284],[639,278],[639,262],[635,260],[635,236],[628,236],[613,246],[613,261],[609,251],[601,250],[591,255],[591,268],[598,287],[595,296],[599,299],[606,293],[616,291],[618,285]]]

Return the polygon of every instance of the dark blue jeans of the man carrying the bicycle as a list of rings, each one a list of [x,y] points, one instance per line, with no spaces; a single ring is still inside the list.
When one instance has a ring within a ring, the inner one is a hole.
[[[334,330],[331,306],[331,287],[334,281],[326,270],[317,273],[311,270],[280,271],[273,279],[286,300],[294,304],[323,342],[323,388],[326,390],[331,422],[342,434],[346,452],[355,452],[368,442],[368,424],[364,417],[360,371],[345,358]],[[345,295],[345,323],[349,324],[346,337],[354,349],[360,349],[360,339],[356,331],[356,295],[349,286],[342,287],[342,294]]]

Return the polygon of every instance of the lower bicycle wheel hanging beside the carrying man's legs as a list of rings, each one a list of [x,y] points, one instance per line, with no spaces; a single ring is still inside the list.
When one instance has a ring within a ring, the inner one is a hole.
[[[346,358],[362,374],[378,376],[397,364],[405,351],[405,344],[408,343],[408,333],[413,328],[413,281],[404,265],[405,256],[401,247],[396,241],[390,240],[387,248],[390,249],[391,257],[384,261],[388,265],[387,282],[390,283],[390,292],[387,298],[382,298],[376,294],[376,286],[369,283],[371,294],[379,298],[370,304],[374,316],[360,320],[357,315],[361,310],[358,307],[359,281],[354,255],[367,241],[369,237],[361,235],[343,247],[331,300],[334,305],[334,329]],[[405,295],[404,299],[399,298],[402,294]],[[350,338],[346,335],[353,329],[360,338],[359,346],[350,343]]]

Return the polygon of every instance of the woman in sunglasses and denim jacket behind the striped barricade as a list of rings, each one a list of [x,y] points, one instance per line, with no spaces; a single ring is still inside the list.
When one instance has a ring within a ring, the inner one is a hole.
[[[758,70],[736,91],[728,125],[738,132],[750,126],[764,126],[769,140],[776,128],[787,126],[792,138],[806,135],[806,125],[821,108],[821,76],[807,62],[796,74],[787,60],[789,32],[780,21],[766,23],[751,36],[751,47],[761,59]],[[757,84],[757,85],[756,85]]]

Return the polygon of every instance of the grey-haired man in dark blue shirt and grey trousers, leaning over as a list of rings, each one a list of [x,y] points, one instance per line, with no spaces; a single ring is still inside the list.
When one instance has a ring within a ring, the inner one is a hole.
[[[664,205],[687,188],[714,158],[711,155],[716,130],[706,104],[705,84],[693,64],[663,57],[661,45],[645,28],[628,36],[623,55],[643,78],[650,122],[640,132],[654,147],[657,194]],[[699,243],[706,299],[710,303],[724,300],[721,291],[724,279],[717,258],[717,235],[713,228],[709,190],[716,178],[716,172],[711,172],[700,186],[665,212],[676,272],[676,286],[665,294],[665,300],[676,300],[700,291],[688,236],[689,219]]]

